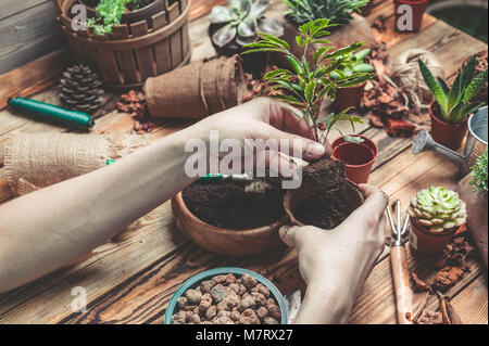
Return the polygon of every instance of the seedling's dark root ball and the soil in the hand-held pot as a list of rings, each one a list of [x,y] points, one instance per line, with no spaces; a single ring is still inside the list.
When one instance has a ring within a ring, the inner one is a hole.
[[[304,225],[312,225],[322,229],[334,229],[344,221],[354,210],[351,200],[348,201],[344,184],[349,183],[358,189],[358,196],[363,196],[360,188],[348,181],[344,164],[329,157],[310,164],[302,170],[303,189],[308,197],[294,210],[296,218]],[[353,204],[359,204],[354,201]]]

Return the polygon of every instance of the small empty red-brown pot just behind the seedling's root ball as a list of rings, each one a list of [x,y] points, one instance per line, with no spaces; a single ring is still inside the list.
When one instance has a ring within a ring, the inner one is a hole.
[[[344,163],[348,179],[355,183],[366,183],[378,154],[377,145],[364,136],[350,136],[361,137],[364,141],[356,144],[340,137],[331,144],[331,157]]]

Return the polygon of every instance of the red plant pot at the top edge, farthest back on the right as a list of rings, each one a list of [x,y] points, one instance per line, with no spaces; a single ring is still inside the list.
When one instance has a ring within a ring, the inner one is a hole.
[[[396,21],[394,26],[396,30],[401,33],[413,33],[418,31],[421,25],[423,23],[423,15],[425,14],[426,7],[428,5],[429,0],[394,0],[394,14]],[[406,10],[409,8],[410,10]],[[412,13],[412,25],[406,23],[410,21],[409,15]],[[403,26],[406,27],[403,27]]]

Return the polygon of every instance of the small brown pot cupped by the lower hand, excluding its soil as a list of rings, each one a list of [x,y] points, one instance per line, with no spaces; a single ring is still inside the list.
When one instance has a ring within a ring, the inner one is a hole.
[[[360,190],[360,188],[350,180],[348,180],[347,184],[344,184],[341,194],[353,210],[360,207],[365,200],[362,190]],[[299,219],[296,217],[294,210],[309,196],[310,194],[308,194],[302,188],[287,191],[286,195],[284,196],[284,208],[291,223],[297,226],[304,226],[304,223],[299,221]]]

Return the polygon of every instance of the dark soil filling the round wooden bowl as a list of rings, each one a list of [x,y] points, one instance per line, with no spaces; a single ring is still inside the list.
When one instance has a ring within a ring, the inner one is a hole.
[[[199,180],[183,192],[189,210],[202,221],[234,230],[272,225],[285,216],[279,178],[252,181]]]

